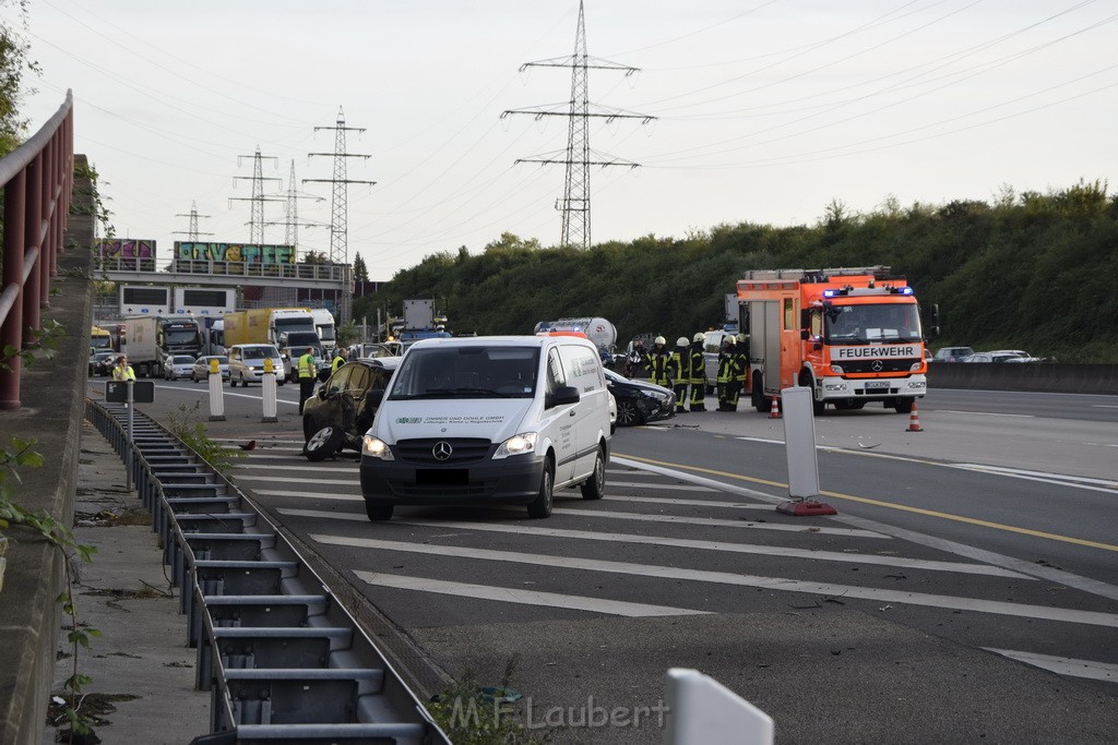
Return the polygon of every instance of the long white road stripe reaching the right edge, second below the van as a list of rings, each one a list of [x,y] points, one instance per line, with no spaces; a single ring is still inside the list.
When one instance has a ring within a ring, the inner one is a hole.
[[[860,588],[849,584],[830,582],[803,582],[788,577],[758,576],[751,574],[731,574],[729,572],[708,572],[686,570],[674,566],[656,566],[653,564],[635,564],[631,562],[610,562],[594,558],[576,558],[572,556],[552,556],[546,554],[528,554],[511,551],[493,551],[489,548],[464,548],[446,545],[420,545],[399,541],[378,541],[376,538],[357,538],[311,534],[318,543],[350,546],[353,548],[372,548],[380,551],[397,551],[411,554],[428,554],[442,557],[475,558],[486,562],[509,562],[546,566],[548,569],[584,570],[589,572],[606,572],[610,574],[628,574],[642,577],[662,580],[681,580],[685,582],[708,582],[743,588],[760,588],[781,592],[802,592],[827,598],[872,600],[884,603],[903,603],[939,609],[973,611],[976,613],[993,613],[1018,618],[1043,619],[1064,623],[1083,623],[1107,628],[1118,628],[1118,614],[1096,611],[1078,611],[1065,608],[1048,608],[1025,603],[1010,603],[976,598],[956,598],[921,592],[903,592],[877,588]]]

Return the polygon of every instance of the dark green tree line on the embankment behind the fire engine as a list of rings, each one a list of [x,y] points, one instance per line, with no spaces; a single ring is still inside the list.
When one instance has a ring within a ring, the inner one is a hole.
[[[1046,193],[1008,187],[991,202],[897,200],[866,214],[840,201],[812,226],[720,225],[686,238],[645,236],[589,249],[542,247],[511,233],[398,271],[354,318],[399,314],[434,297],[459,333],[531,333],[539,321],[601,316],[618,344],[721,326],[724,295],[748,269],[887,265],[922,308],[939,308],[941,345],[1023,348],[1061,362],[1118,361],[1118,195],[1106,182]]]

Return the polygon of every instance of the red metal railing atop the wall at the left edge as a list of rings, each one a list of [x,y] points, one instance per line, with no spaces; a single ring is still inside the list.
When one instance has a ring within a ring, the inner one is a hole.
[[[3,276],[0,290],[0,357],[23,348],[25,332],[40,326],[50,307],[50,278],[69,216],[74,183],[74,97],[31,139],[0,160],[3,184]],[[22,360],[0,367],[0,409],[19,409]]]

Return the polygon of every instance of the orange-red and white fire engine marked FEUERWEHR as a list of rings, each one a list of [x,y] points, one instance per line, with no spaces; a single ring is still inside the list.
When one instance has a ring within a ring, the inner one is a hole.
[[[748,335],[751,402],[767,412],[793,385],[823,413],[870,401],[900,413],[927,391],[925,342],[912,288],[889,267],[768,269],[738,280]]]

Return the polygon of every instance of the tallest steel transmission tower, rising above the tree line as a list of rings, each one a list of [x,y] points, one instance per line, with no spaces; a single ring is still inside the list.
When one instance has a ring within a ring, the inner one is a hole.
[[[590,118],[600,117],[607,122],[622,118],[642,120],[642,124],[651,122],[654,116],[607,108],[589,101],[589,74],[591,69],[620,70],[628,77],[639,71],[639,68],[612,63],[607,59],[590,57],[586,51],[586,18],[582,2],[578,3],[578,31],[575,35],[575,54],[570,57],[557,57],[527,63],[521,70],[529,67],[569,67],[571,68],[570,103],[567,111],[558,106],[536,106],[532,108],[510,109],[501,114],[531,114],[536,118],[544,116],[569,117],[567,135],[567,152],[548,153],[534,157],[521,157],[517,163],[562,164],[567,166],[567,181],[561,200],[556,201],[556,209],[562,211],[562,245],[590,247],[590,166],[591,165],[627,165],[635,169],[639,163],[618,160],[612,155],[590,150]],[[561,106],[561,104],[559,105]]]

